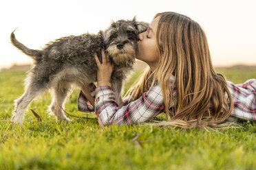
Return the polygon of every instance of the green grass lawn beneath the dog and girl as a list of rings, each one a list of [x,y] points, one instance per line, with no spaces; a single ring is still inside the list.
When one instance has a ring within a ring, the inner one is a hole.
[[[256,70],[217,71],[235,83],[256,77]],[[71,123],[56,122],[46,114],[51,98],[45,93],[30,105],[43,121],[28,111],[23,127],[11,125],[13,101],[23,93],[24,78],[24,71],[0,72],[0,169],[256,169],[256,123],[251,122],[241,123],[246,130],[218,132],[100,127],[95,120],[73,117]],[[85,116],[77,111],[78,92],[74,90],[66,110]]]

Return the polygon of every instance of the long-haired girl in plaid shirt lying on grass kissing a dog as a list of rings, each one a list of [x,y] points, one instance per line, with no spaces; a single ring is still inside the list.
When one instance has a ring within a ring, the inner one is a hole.
[[[184,128],[217,126],[228,117],[256,121],[256,80],[233,84],[215,73],[206,36],[198,23],[175,12],[156,14],[147,32],[139,35],[138,60],[149,65],[140,82],[129,90],[118,108],[111,90],[113,66],[102,52],[95,90],[95,112],[100,125],[142,123],[161,112],[159,125]],[[94,91],[94,84],[91,84]],[[93,111],[85,95],[78,110]]]

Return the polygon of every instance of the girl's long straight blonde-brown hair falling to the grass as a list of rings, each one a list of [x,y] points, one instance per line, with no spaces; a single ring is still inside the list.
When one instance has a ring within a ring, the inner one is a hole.
[[[152,85],[157,80],[162,89],[167,114],[167,121],[160,125],[217,126],[231,115],[233,99],[225,78],[215,73],[204,31],[182,14],[163,12],[154,18],[158,16],[156,37],[160,64],[153,73],[148,69],[131,88],[132,100],[149,90],[147,82],[153,77]],[[178,93],[177,102],[171,107],[173,117],[169,114],[174,88],[169,84],[171,75],[175,77],[173,85]]]

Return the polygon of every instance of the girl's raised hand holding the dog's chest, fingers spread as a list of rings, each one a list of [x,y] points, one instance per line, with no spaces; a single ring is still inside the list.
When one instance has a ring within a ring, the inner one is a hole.
[[[101,56],[103,58],[103,64],[98,60],[98,56],[94,53],[94,58],[98,67],[97,71],[97,81],[98,86],[110,86],[111,87],[111,74],[114,69],[113,64],[107,60],[107,56],[105,54],[105,50],[101,49]]]

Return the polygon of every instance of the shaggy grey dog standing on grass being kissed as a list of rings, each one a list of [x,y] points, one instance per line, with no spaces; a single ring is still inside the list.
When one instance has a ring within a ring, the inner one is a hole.
[[[113,21],[105,31],[98,34],[66,36],[49,42],[41,50],[25,47],[15,38],[14,30],[10,35],[12,45],[30,56],[33,64],[25,79],[25,93],[15,100],[12,122],[22,125],[28,105],[48,89],[52,94],[50,114],[55,115],[57,121],[71,121],[63,113],[63,108],[72,92],[72,84],[82,88],[97,81],[94,53],[102,62],[101,49],[105,49],[109,61],[114,64],[111,84],[116,102],[121,107],[122,82],[134,65],[138,52],[138,34],[145,32],[148,25],[136,21],[135,17],[131,20]],[[88,92],[87,89],[82,91]]]

